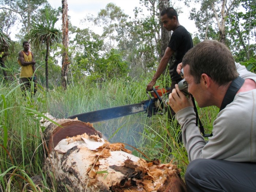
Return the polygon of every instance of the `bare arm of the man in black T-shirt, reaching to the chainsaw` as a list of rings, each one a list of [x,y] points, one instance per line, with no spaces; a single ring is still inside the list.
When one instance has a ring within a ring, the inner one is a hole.
[[[153,86],[155,85],[155,82],[157,81],[157,79],[159,78],[159,76],[163,73],[163,70],[165,70],[169,60],[170,60],[170,57],[172,56],[172,54],[174,53],[174,51],[167,47],[166,50],[165,50],[165,54],[164,56],[162,57],[159,65],[158,65],[158,68],[157,68],[157,71],[155,72],[155,75],[153,76],[152,80],[150,83],[148,83],[147,85],[147,90],[148,91],[151,91]]]

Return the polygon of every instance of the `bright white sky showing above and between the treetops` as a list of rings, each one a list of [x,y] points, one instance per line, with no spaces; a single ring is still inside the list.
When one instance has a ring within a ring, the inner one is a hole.
[[[53,8],[61,7],[61,0],[48,0]],[[87,14],[93,14],[97,16],[101,9],[104,9],[108,3],[114,3],[125,14],[133,16],[133,9],[135,7],[141,7],[139,0],[67,0],[68,3],[68,15],[71,16],[71,23],[74,26],[84,29],[85,27],[80,24],[80,20],[85,18]],[[179,4],[180,3],[180,4]],[[177,6],[185,7],[182,2],[177,1]],[[178,19],[181,25],[183,25],[190,33],[195,33],[197,31],[194,21],[189,20],[189,10],[185,7],[183,13],[178,15]],[[146,14],[146,11],[145,11]],[[61,23],[58,24],[61,29]]]

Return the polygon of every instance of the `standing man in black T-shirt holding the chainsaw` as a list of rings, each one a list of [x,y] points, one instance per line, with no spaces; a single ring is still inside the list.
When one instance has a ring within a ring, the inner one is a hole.
[[[165,50],[155,75],[150,83],[147,85],[147,91],[151,91],[159,76],[165,70],[169,60],[169,70],[172,83],[170,88],[173,89],[174,85],[181,80],[181,76],[176,72],[177,65],[181,63],[184,54],[193,47],[193,41],[189,32],[180,25],[176,10],[172,7],[165,8],[161,12],[161,22],[167,31],[173,31],[169,45]],[[174,117],[173,110],[168,113],[169,119]]]

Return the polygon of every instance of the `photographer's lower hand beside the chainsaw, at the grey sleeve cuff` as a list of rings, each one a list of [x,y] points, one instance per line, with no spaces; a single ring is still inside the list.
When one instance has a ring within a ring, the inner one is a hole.
[[[179,90],[178,84],[175,85],[175,89],[169,94],[168,104],[174,110],[175,113],[189,106],[193,106],[192,100],[185,96],[185,94]]]

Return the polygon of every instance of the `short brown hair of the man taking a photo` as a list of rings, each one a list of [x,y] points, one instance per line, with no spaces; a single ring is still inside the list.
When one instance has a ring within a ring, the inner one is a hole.
[[[207,74],[219,86],[238,77],[235,60],[226,45],[205,40],[188,50],[182,59],[182,65],[189,65],[190,74],[195,83],[200,83],[201,75]]]

